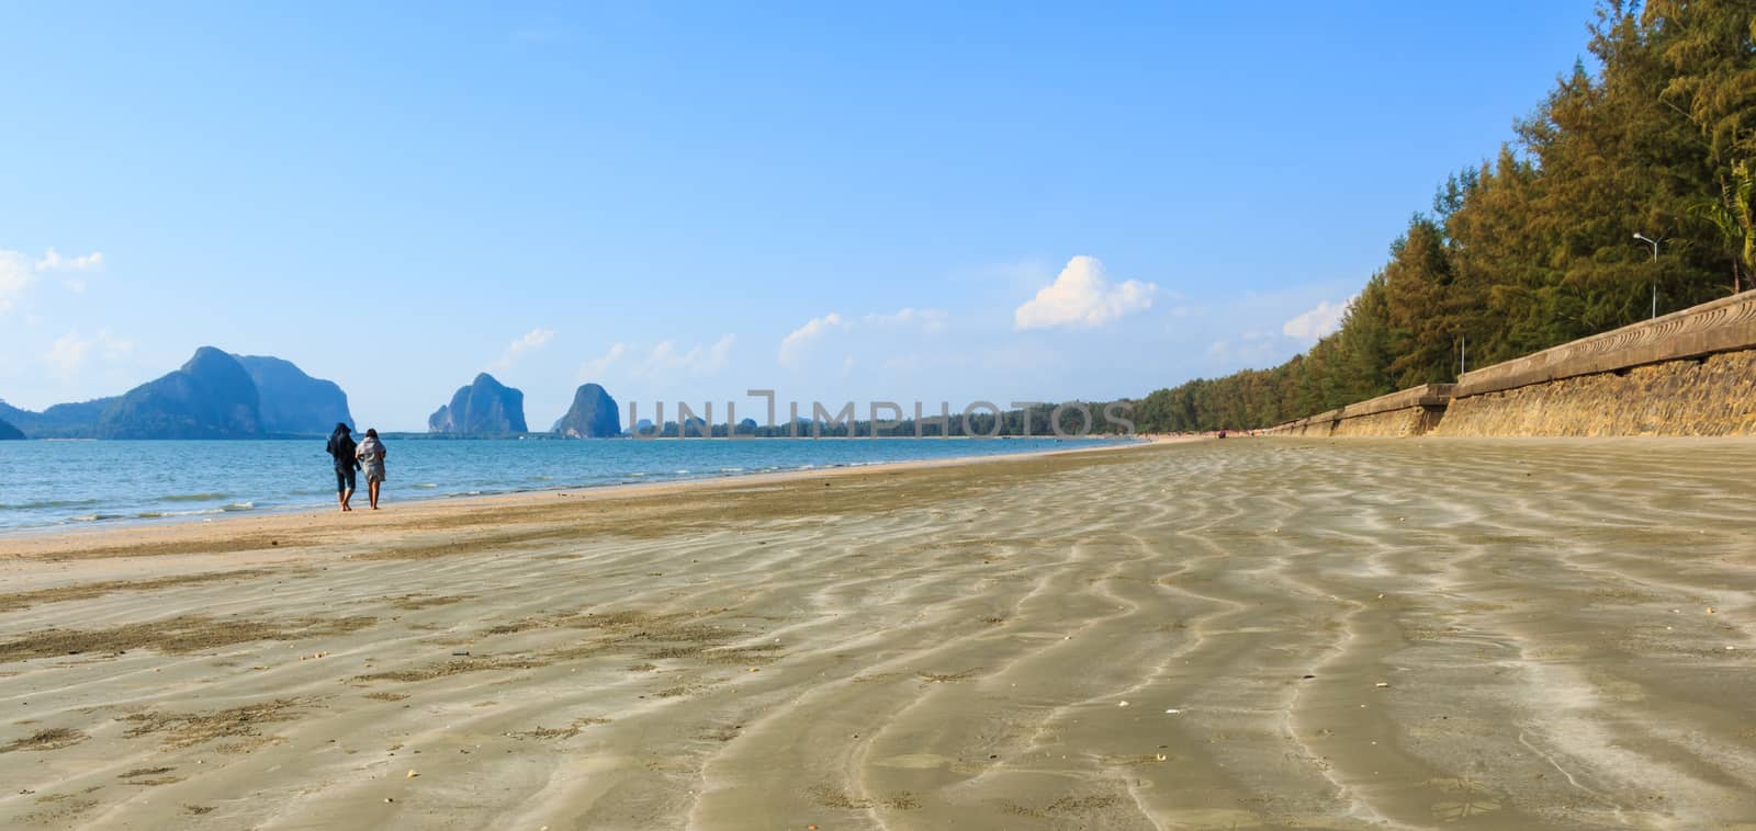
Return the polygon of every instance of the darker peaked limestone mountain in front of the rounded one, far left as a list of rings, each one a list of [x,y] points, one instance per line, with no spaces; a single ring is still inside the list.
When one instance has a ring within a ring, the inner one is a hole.
[[[104,408],[97,438],[249,438],[262,435],[256,384],[230,354],[200,347],[179,370]]]

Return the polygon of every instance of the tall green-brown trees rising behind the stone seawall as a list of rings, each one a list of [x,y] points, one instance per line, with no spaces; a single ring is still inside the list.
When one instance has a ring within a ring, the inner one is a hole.
[[[1408,221],[1340,328],[1138,403],[1141,430],[1261,428],[1751,288],[1756,9],[1603,0],[1586,63]],[[1652,247],[1635,238],[1644,235]]]

